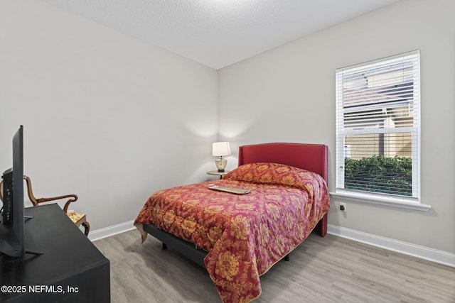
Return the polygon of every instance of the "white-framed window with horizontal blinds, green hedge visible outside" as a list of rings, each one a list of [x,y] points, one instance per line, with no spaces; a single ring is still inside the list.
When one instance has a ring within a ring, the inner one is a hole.
[[[336,70],[336,190],[419,200],[420,53]]]

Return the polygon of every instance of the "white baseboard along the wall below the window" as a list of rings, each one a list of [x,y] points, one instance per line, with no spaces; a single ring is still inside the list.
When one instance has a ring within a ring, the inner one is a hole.
[[[327,224],[327,233],[372,246],[378,246],[380,248],[396,251],[397,253],[404,253],[405,255],[412,255],[424,260],[430,260],[432,262],[455,267],[455,253],[448,253],[444,250],[418,246],[412,243],[398,241],[381,236],[375,236],[371,233],[363,233],[362,231],[355,231],[353,229],[344,228],[332,224]]]

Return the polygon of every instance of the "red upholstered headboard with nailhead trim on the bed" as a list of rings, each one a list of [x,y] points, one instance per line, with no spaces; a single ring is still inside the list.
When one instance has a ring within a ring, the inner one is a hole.
[[[239,147],[239,166],[254,162],[274,162],[317,172],[327,180],[327,145],[264,143]]]

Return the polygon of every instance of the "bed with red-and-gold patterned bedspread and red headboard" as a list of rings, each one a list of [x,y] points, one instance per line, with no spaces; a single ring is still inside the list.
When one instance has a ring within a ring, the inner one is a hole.
[[[240,146],[238,167],[222,180],[152,194],[134,225],[142,241],[150,234],[203,265],[223,302],[250,302],[272,265],[311,231],[326,235],[327,154],[316,144]]]

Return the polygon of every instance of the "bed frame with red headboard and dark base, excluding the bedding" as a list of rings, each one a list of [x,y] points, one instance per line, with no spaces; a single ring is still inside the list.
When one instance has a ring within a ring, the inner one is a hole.
[[[327,180],[328,148],[321,144],[301,143],[264,143],[256,145],[243,145],[239,147],[238,165],[254,162],[274,162],[303,168],[321,175]],[[321,236],[327,233],[327,214],[316,225],[314,230],[319,231]],[[195,247],[193,243],[184,241],[173,236],[171,233],[156,228],[153,224],[144,225],[144,231],[159,239],[163,243],[163,249],[172,247],[193,262],[205,268],[204,258],[208,254],[206,250]],[[289,256],[286,257],[289,260]]]

